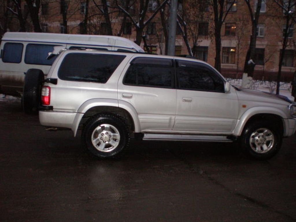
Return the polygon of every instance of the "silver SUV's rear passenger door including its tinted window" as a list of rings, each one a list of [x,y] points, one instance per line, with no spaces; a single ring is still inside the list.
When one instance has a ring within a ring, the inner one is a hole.
[[[173,59],[136,57],[118,82],[118,99],[138,113],[141,131],[172,130],[176,115]]]

